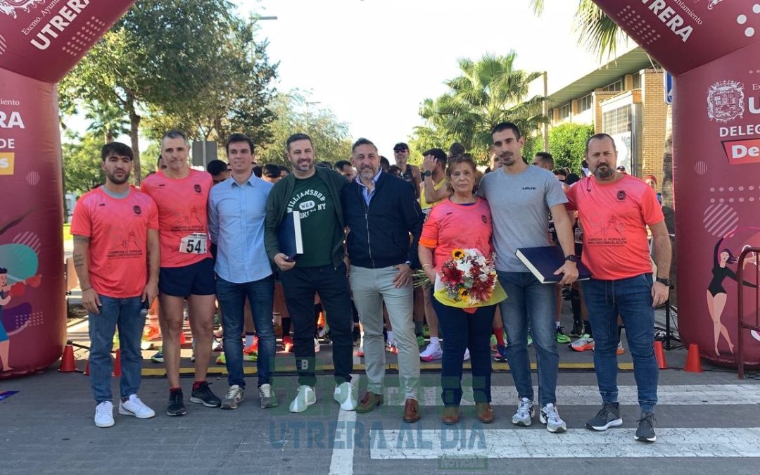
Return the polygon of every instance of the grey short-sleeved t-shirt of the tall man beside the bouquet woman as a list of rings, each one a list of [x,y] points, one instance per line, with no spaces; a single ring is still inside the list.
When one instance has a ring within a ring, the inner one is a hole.
[[[496,270],[528,272],[515,251],[549,245],[549,209],[568,202],[562,184],[553,173],[538,166],[529,165],[515,174],[499,168],[483,176],[478,195],[491,207]]]

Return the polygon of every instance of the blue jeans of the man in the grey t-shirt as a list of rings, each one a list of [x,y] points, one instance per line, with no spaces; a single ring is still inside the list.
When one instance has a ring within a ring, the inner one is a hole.
[[[538,368],[538,399],[541,406],[556,404],[559,353],[555,338],[555,285],[540,283],[530,272],[498,271],[507,299],[499,303],[507,332],[507,362],[518,397],[534,401],[527,353],[527,329],[533,336]]]

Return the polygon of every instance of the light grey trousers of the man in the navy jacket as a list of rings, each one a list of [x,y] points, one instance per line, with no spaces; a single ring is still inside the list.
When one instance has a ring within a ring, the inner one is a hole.
[[[407,399],[417,399],[420,391],[420,350],[414,334],[413,286],[394,287],[397,268],[359,268],[351,266],[349,283],[353,304],[364,326],[364,362],[367,391],[383,394],[385,380],[385,340],[382,336],[382,302],[388,309],[398,348],[398,375]]]

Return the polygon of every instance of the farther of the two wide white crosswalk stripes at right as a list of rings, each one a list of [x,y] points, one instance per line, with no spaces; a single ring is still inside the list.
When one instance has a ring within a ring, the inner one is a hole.
[[[436,381],[437,382],[437,381]],[[386,404],[403,406],[405,394],[397,387],[385,390]],[[462,396],[463,406],[474,404],[471,388],[464,386]],[[635,386],[619,386],[618,401],[623,405],[637,405],[638,397]],[[424,397],[420,401],[423,406],[439,406],[441,388],[423,388]],[[538,397],[538,388],[534,387]],[[597,406],[601,404],[597,386],[558,386],[558,406]],[[518,393],[513,386],[494,386],[491,388],[492,405],[511,406],[517,404]],[[760,404],[760,385],[660,385],[657,388],[657,404],[673,404],[692,406],[704,404],[734,405]]]

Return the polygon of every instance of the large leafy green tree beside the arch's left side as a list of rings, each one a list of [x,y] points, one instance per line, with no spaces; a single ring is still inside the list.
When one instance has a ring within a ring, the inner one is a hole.
[[[191,136],[211,136],[215,127],[217,134],[258,127],[265,136],[276,66],[235,10],[227,0],[138,0],[63,79],[62,110],[121,110],[138,182],[146,112],[172,118],[170,128]]]

